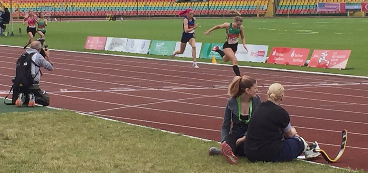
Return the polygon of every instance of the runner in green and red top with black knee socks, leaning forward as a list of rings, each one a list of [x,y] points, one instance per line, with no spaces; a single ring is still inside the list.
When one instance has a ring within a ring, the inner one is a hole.
[[[234,11],[234,13],[236,12]],[[233,64],[234,73],[237,76],[240,76],[240,70],[238,68],[238,60],[236,59],[235,53],[238,50],[239,35],[241,37],[243,47],[245,48],[245,50],[248,51],[247,47],[245,46],[244,28],[242,23],[243,18],[241,18],[240,16],[236,16],[233,22],[231,23],[225,22],[223,24],[216,25],[215,27],[212,27],[211,29],[205,32],[205,35],[210,35],[210,32],[216,29],[220,28],[226,29],[226,41],[223,45],[223,51],[220,50],[219,46],[213,47],[212,51],[219,53],[225,62],[230,60]]]

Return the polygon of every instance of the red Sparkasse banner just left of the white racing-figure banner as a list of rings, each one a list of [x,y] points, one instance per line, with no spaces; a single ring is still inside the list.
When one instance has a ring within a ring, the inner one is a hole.
[[[310,49],[273,47],[267,63],[304,66]]]

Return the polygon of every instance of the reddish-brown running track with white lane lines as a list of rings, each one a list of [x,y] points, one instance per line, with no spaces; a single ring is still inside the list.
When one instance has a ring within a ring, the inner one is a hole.
[[[0,96],[5,96],[24,49],[0,47]],[[83,53],[52,52],[56,69],[43,70],[42,89],[53,107],[95,114],[210,140],[220,140],[231,67],[132,59]],[[339,167],[368,170],[368,80],[326,75],[240,69],[266,86],[287,88],[282,106],[307,141],[318,141],[331,157],[348,130]],[[362,83],[362,84],[360,84]],[[262,87],[264,86],[264,87]],[[210,146],[208,146],[210,147]],[[207,151],[203,151],[207,152]],[[319,158],[316,162],[326,163]]]

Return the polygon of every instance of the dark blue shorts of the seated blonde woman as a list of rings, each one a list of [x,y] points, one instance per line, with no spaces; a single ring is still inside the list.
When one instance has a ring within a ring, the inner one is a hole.
[[[272,162],[289,162],[304,151],[304,142],[300,137],[286,138],[280,151],[272,157]]]

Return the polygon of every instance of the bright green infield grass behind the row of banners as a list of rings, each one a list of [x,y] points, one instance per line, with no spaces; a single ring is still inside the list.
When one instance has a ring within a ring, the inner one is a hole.
[[[196,29],[197,42],[224,42],[224,29],[213,31],[210,36],[205,36],[203,33],[216,24],[231,21],[231,18],[197,19],[197,22],[201,25],[201,28]],[[244,20],[243,25],[247,44],[269,45],[268,54],[274,46],[301,47],[310,48],[312,50],[348,49],[352,50],[352,52],[347,63],[347,67],[354,67],[354,69],[320,69],[248,62],[239,63],[240,65],[368,76],[368,70],[366,68],[368,66],[368,59],[366,58],[368,38],[365,37],[365,30],[368,27],[368,22],[366,18],[248,18]],[[18,28],[22,28],[21,35],[18,32]],[[0,44],[24,46],[28,38],[25,34],[25,29],[26,26],[21,23],[15,23],[15,36],[0,37]],[[306,33],[303,30],[318,33]],[[87,36],[180,41],[181,32],[181,19],[128,20],[122,22],[122,24],[120,24],[120,21],[49,22],[46,33],[46,42],[50,45],[51,49],[149,56],[169,59],[168,56],[84,50],[84,44]],[[38,37],[39,36],[36,35],[36,38]],[[310,52],[309,57],[311,54],[312,51]],[[191,60],[190,58],[176,59]],[[198,61],[210,62],[209,59],[200,59]],[[222,62],[220,61],[218,63]]]

